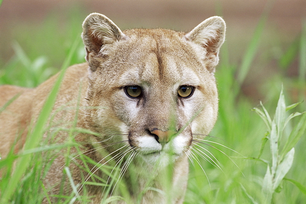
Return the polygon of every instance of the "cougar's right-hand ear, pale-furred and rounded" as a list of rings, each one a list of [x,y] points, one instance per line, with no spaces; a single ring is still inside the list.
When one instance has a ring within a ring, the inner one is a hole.
[[[224,20],[221,17],[213,16],[207,18],[185,35],[187,40],[205,48],[206,57],[211,62],[207,65],[210,72],[214,72],[215,66],[218,64],[218,53],[225,39],[225,28]]]

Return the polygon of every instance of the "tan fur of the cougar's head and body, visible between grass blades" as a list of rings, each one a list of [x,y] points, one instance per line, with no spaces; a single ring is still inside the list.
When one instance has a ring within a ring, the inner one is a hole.
[[[112,153],[123,145],[129,145],[135,148],[132,151],[139,153],[134,160],[137,180],[127,183],[138,183],[138,190],[130,191],[132,199],[136,199],[145,187],[147,175],[157,161],[160,162],[157,172],[162,172],[163,166],[170,161],[174,162],[172,189],[175,196],[172,202],[181,203],[188,178],[186,152],[192,138],[197,137],[192,134],[208,134],[217,118],[218,94],[214,72],[224,36],[225,23],[220,17],[208,18],[191,32],[183,33],[166,29],[121,31],[104,15],[92,13],[83,23],[87,63],[71,66],[66,71],[53,108],[51,127],[72,127],[78,112],[77,127],[101,136],[78,134],[77,142],[100,142],[111,137],[94,146],[83,145],[84,151],[129,140],[103,151]],[[3,157],[15,138],[19,138],[15,152],[22,148],[29,125],[36,121],[56,77],[35,89],[0,87],[0,107],[14,95],[21,94],[0,114],[0,153]],[[140,86],[143,95],[136,99],[127,96],[124,87],[129,85]],[[181,85],[193,86],[193,95],[178,97],[177,90]],[[76,111],[78,99],[80,110]],[[97,108],[84,108],[86,106]],[[150,133],[154,129],[172,130],[179,134],[170,137],[170,142],[161,144],[155,139],[158,137]],[[67,135],[66,131],[59,131],[55,138],[57,143],[65,142]],[[47,134],[44,138],[48,139]],[[66,162],[65,153],[65,150],[61,151],[44,180],[47,187],[53,187],[50,194],[59,192],[60,167]],[[172,155],[172,159],[157,160],[163,153]],[[73,148],[71,154],[76,154],[76,149]],[[92,152],[89,157],[99,162],[103,152]],[[81,183],[80,168],[76,164],[69,168],[74,183]],[[101,172],[98,174],[103,177]],[[69,194],[71,189],[67,183],[65,185],[64,193]],[[152,186],[165,190],[159,179],[154,179]],[[89,195],[95,195],[93,202],[98,202],[101,188],[92,186],[89,189]],[[166,200],[155,191],[147,191],[142,202],[162,203]]]

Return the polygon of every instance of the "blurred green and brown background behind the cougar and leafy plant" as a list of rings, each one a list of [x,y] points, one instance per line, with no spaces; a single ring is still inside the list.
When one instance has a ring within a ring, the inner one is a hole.
[[[282,85],[287,105],[305,101],[305,0],[4,0],[0,7],[0,85],[39,85],[58,72],[75,39],[80,43],[71,64],[84,62],[81,25],[93,12],[106,15],[122,30],[170,28],[186,32],[208,17],[222,16],[226,41],[215,74],[220,102],[211,135],[224,142],[211,139],[245,157],[261,155],[271,160],[268,142],[264,145],[267,128],[250,109],[258,107],[262,100],[273,118]],[[305,102],[295,108],[305,110]],[[292,139],[289,134],[299,119],[294,118],[284,128],[280,150]],[[295,145],[293,166],[286,175],[299,184],[282,183],[278,188],[282,192],[273,196],[274,203],[305,202],[305,144],[303,134]],[[210,184],[199,165],[191,166],[185,202],[267,202],[261,191],[267,164],[237,158],[241,155],[217,147],[236,157],[239,168],[220,151],[208,147],[223,166],[224,174],[199,157]]]

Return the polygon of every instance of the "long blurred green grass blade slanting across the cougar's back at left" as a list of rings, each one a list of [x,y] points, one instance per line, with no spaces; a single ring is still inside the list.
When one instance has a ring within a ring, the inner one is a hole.
[[[43,137],[43,129],[45,128],[45,124],[47,123],[49,115],[52,111],[58,90],[60,88],[62,79],[65,75],[65,71],[67,67],[69,66],[70,59],[73,53],[75,52],[78,43],[79,43],[79,39],[75,40],[75,42],[73,43],[69,51],[69,55],[65,59],[65,62],[62,65],[62,71],[60,72],[57,81],[54,83],[53,89],[51,90],[38,116],[35,127],[33,128],[32,133],[29,133],[27,136],[27,140],[24,144],[24,150],[33,149],[39,145],[39,142],[41,141]],[[17,161],[15,171],[9,181],[7,189],[6,191],[2,193],[1,203],[7,203],[10,200],[10,197],[16,191],[17,185],[20,182],[21,177],[24,175],[24,172],[28,168],[31,157],[32,157],[32,154],[26,154],[26,155],[21,156],[19,160]]]

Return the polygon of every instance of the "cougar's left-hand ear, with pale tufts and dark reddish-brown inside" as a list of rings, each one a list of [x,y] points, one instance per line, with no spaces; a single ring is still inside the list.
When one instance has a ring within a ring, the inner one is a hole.
[[[86,49],[86,61],[92,71],[97,68],[97,56],[106,57],[106,48],[124,39],[125,35],[109,18],[100,13],[91,13],[83,22],[82,39]]]

